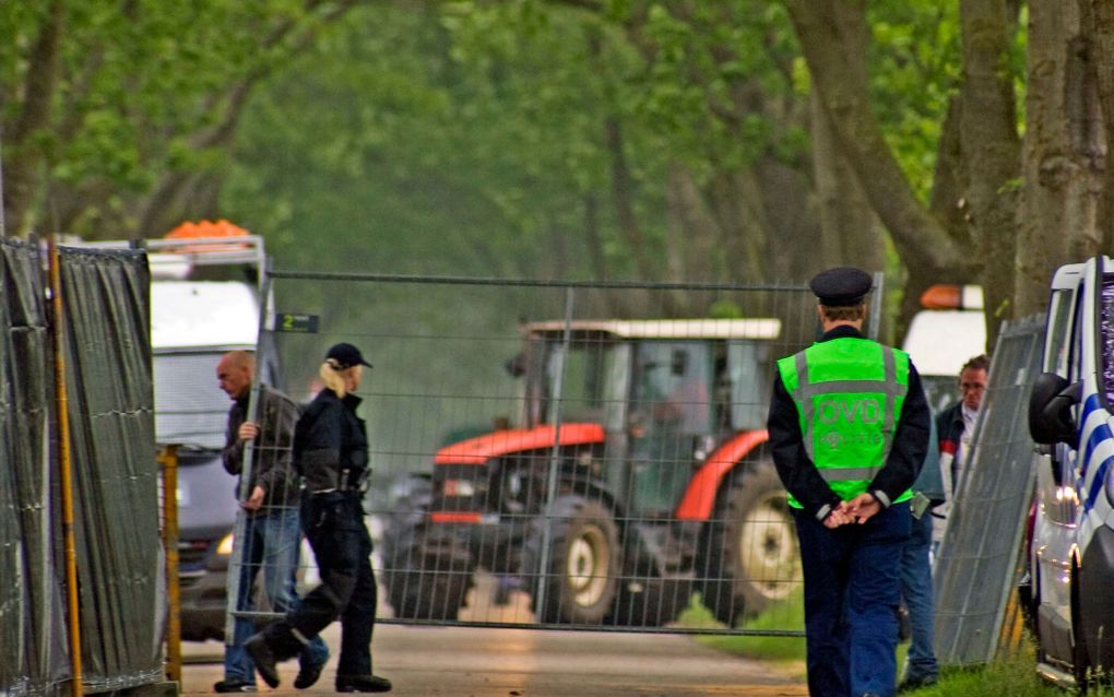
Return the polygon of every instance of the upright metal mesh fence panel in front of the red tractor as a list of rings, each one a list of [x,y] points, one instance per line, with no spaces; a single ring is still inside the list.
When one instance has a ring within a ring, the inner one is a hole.
[[[382,620],[803,633],[763,447],[774,361],[818,336],[803,284],[271,280],[294,401],[333,343],[374,366]]]

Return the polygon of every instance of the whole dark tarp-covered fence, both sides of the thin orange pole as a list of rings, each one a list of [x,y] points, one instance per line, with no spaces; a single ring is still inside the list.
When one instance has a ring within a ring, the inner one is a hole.
[[[69,693],[53,348],[38,246],[0,241],[0,694]],[[62,249],[82,683],[163,679],[165,589],[140,251]]]

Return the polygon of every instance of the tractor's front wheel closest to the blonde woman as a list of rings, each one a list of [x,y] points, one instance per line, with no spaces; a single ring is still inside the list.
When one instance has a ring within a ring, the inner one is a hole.
[[[472,584],[472,559],[451,529],[430,525],[429,502],[429,487],[419,487],[392,507],[384,525],[387,602],[398,618],[455,620]]]

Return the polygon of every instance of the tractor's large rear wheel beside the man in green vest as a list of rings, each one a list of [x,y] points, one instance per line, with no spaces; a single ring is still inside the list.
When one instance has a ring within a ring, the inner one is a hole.
[[[721,496],[701,539],[704,606],[723,623],[753,617],[801,587],[801,553],[785,488],[770,462],[744,467]]]

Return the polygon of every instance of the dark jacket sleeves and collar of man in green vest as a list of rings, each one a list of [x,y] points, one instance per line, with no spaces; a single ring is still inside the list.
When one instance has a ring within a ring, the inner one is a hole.
[[[820,340],[829,341],[844,337],[863,338],[853,327],[844,325],[825,332]],[[830,511],[838,506],[840,497],[828,486],[815,463],[809,458],[804,449],[800,419],[797,404],[781,381],[781,375],[775,375],[768,422],[773,462],[789,493],[801,503],[809,515],[815,516],[821,510]],[[893,446],[890,448],[886,465],[867,491],[880,490],[889,501],[897,501],[906,490],[910,488],[925,461],[930,428],[931,415],[928,410],[928,400],[925,398],[920,376],[910,362],[908,391],[893,434]],[[883,505],[886,503],[883,502]]]

